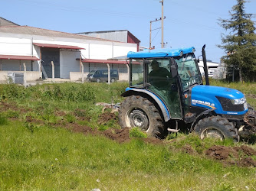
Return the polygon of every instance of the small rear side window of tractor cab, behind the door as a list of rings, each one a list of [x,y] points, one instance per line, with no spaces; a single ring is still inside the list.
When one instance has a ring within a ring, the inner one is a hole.
[[[143,60],[130,60],[130,73],[131,73],[130,86],[143,88],[144,86]]]

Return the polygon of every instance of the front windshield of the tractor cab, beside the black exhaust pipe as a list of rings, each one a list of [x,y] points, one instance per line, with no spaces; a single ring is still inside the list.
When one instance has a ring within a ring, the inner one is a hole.
[[[188,53],[175,58],[178,65],[178,73],[182,81],[182,89],[186,91],[189,86],[202,84],[202,77],[196,63],[194,53]]]

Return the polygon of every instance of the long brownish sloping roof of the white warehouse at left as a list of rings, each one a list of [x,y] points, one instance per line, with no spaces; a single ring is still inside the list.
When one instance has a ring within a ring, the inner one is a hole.
[[[88,37],[86,35],[80,34],[71,34],[65,33],[61,31],[51,31],[48,29],[42,28],[32,28],[28,26],[8,26],[8,27],[1,27],[0,32],[2,33],[11,33],[11,34],[28,34],[28,35],[38,35],[38,36],[46,36],[46,37],[66,37],[66,38],[76,38],[82,40],[101,40],[101,41],[111,41],[107,39],[100,39],[97,37]]]

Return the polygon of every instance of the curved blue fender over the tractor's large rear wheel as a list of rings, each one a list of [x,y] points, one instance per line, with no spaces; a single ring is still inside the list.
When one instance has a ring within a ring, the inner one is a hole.
[[[161,109],[164,120],[165,121],[170,120],[171,117],[170,117],[170,113],[169,113],[168,108],[166,107],[164,102],[162,102],[162,100],[159,99],[159,97],[156,94],[153,94],[153,92],[149,92],[146,89],[131,89],[130,88],[130,89],[126,90],[126,92],[123,92],[121,94],[121,96],[123,96],[123,97],[127,97],[127,96],[130,96],[130,95],[147,95],[147,96],[149,96],[150,98],[152,98],[156,102],[156,104]]]

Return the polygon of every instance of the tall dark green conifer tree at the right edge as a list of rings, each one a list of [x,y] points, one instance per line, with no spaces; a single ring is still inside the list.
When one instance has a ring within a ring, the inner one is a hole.
[[[245,0],[237,0],[237,5],[229,11],[229,20],[220,18],[220,25],[229,31],[222,34],[222,45],[226,55],[222,60],[228,70],[237,69],[239,80],[256,81],[256,34],[253,14],[245,13]]]

